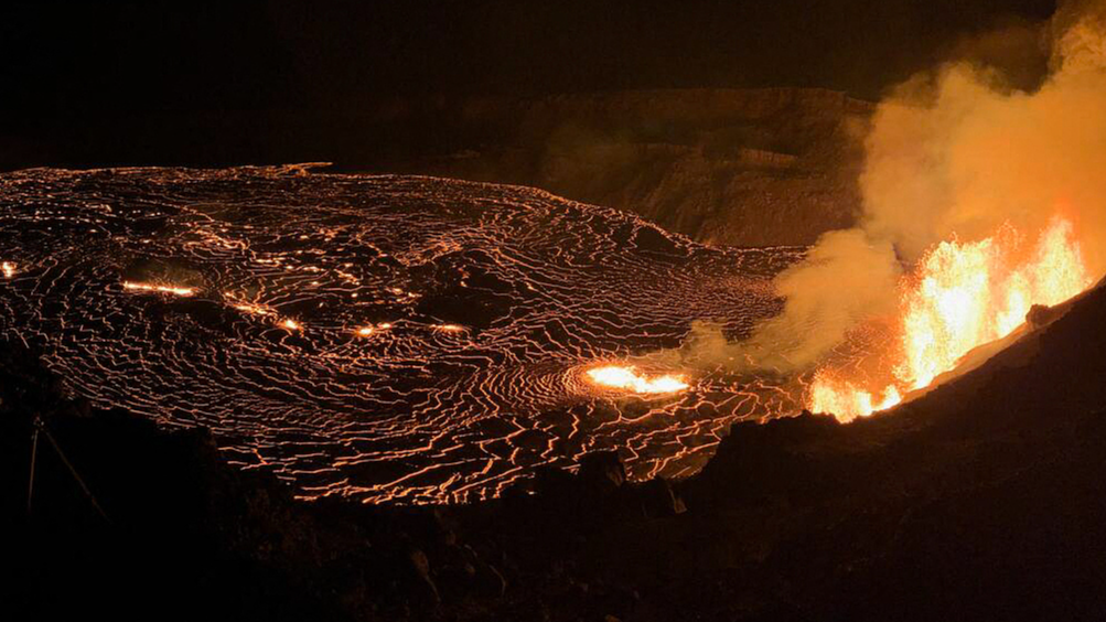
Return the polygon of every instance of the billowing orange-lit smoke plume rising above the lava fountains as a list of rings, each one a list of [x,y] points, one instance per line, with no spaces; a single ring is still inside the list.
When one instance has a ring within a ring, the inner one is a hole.
[[[894,311],[902,265],[941,240],[973,241],[1004,225],[1035,235],[1054,216],[1066,217],[1087,269],[1100,277],[1106,1],[1065,3],[1040,32],[1037,42],[1019,31],[1021,41],[1050,52],[1048,74],[1033,91],[973,58],[916,75],[881,102],[866,143],[859,226],[826,234],[778,278],[786,298],[781,315],[742,344],[695,357],[807,367],[851,329]],[[703,331],[695,340],[716,346]]]

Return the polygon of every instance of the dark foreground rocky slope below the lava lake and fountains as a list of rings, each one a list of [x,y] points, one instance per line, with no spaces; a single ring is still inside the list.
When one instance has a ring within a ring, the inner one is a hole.
[[[296,502],[202,432],[59,397],[9,344],[4,512],[24,509],[41,412],[112,522],[40,447],[3,602],[45,619],[1100,619],[1106,290],[1062,311],[894,413],[735,426],[676,485],[626,484],[598,454],[532,494],[435,509]]]

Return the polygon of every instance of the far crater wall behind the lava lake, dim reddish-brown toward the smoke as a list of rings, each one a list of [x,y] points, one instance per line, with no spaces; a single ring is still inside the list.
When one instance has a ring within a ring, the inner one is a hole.
[[[331,162],[535,186],[699,241],[806,245],[859,212],[873,111],[816,89],[686,89],[150,113],[0,133],[0,170]]]

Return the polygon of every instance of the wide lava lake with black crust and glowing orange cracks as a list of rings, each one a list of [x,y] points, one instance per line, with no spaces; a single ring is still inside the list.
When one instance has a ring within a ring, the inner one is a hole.
[[[306,498],[494,496],[617,449],[634,478],[697,470],[739,419],[794,412],[787,379],[587,371],[734,339],[779,311],[804,249],[697,245],[530,188],[302,168],[0,175],[0,332],[75,395],[212,429]],[[633,385],[630,385],[632,387]]]

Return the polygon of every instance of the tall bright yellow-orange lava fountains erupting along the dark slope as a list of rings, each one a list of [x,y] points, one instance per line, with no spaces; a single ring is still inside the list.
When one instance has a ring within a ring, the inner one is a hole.
[[[1052,219],[1032,248],[1013,227],[974,242],[943,241],[904,278],[889,380],[873,390],[827,369],[815,373],[807,408],[849,422],[895,406],[972,349],[1002,339],[1034,304],[1063,302],[1092,284],[1072,224]]]

